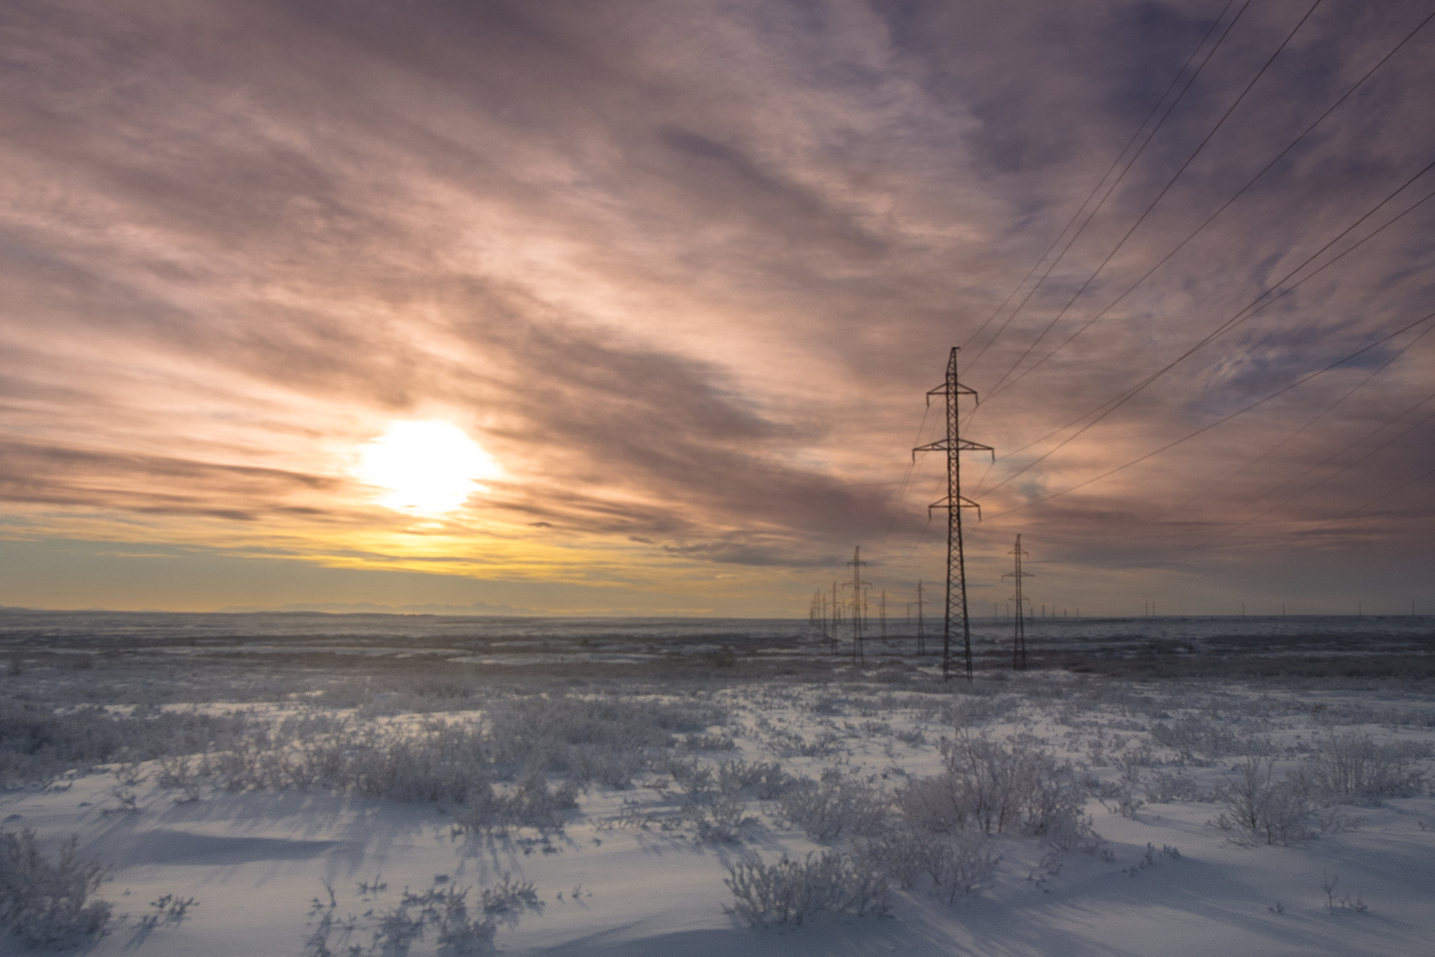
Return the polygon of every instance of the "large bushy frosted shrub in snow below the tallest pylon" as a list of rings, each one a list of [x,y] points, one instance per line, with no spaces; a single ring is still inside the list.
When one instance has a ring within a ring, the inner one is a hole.
[[[1069,765],[1022,742],[961,736],[943,745],[946,770],[897,791],[903,816],[937,834],[1026,834],[1073,847],[1089,832],[1086,791]]]

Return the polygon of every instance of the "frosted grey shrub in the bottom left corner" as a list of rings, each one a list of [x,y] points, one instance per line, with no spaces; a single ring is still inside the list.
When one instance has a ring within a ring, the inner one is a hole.
[[[30,829],[0,831],[0,925],[26,944],[62,944],[92,937],[109,921],[109,904],[89,901],[109,868],[82,861],[79,838],[52,862]]]

